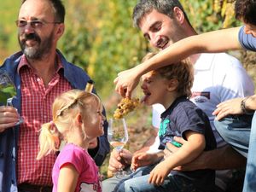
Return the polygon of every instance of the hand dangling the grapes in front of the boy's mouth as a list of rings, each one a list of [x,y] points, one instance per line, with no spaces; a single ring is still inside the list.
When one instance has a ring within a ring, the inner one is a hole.
[[[118,77],[114,79],[115,90],[120,96],[131,98],[131,92],[137,87],[140,76],[137,73],[137,68],[125,70],[118,74]]]

